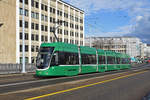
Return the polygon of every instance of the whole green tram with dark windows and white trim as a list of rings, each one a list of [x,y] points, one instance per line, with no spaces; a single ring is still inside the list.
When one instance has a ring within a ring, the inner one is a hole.
[[[36,62],[37,76],[73,76],[130,68],[126,54],[67,43],[42,43]]]

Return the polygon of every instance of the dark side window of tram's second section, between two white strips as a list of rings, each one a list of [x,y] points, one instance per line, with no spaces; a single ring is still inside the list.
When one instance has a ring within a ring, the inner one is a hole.
[[[96,64],[96,55],[81,54],[82,64]]]

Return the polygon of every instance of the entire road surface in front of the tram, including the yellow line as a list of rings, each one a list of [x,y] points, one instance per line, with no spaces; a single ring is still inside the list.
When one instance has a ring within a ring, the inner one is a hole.
[[[32,75],[30,75],[32,76]],[[74,77],[0,78],[0,100],[141,100],[150,91],[150,65]],[[5,79],[5,81],[3,81]],[[91,85],[95,84],[95,85]],[[69,90],[68,90],[69,89]]]

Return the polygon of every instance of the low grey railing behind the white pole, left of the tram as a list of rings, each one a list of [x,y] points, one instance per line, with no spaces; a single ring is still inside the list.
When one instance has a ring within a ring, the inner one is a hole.
[[[34,72],[35,64],[26,64],[26,72]],[[0,74],[21,73],[22,64],[0,64]]]

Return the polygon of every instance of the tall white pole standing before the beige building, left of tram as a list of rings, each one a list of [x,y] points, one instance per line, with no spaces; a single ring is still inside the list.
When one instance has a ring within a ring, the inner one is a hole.
[[[23,9],[23,14],[22,14],[22,73],[26,73],[25,71],[25,33],[24,33],[24,27],[25,27],[25,21],[24,21],[24,15],[25,15],[25,0],[22,0],[22,9]]]

